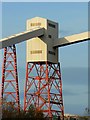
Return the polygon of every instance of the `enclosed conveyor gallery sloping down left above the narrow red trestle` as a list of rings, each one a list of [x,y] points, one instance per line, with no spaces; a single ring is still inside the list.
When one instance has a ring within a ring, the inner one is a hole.
[[[40,37],[44,35],[44,28],[35,28],[33,30],[24,31],[10,37],[6,37],[0,40],[0,49],[12,46],[14,44],[26,41],[34,37]]]

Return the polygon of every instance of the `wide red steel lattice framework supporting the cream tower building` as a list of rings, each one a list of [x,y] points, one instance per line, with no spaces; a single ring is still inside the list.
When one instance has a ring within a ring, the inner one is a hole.
[[[27,63],[24,110],[33,104],[52,120],[64,120],[60,63]]]

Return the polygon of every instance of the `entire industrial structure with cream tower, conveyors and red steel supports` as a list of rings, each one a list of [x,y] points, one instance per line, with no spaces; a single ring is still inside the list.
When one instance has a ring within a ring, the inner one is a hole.
[[[27,30],[0,40],[4,48],[2,98],[12,100],[20,110],[15,44],[26,41],[24,110],[34,104],[52,120],[64,120],[64,105],[58,47],[87,41],[90,32],[58,38],[58,23],[40,17],[27,20]],[[11,96],[11,97],[10,97]]]

